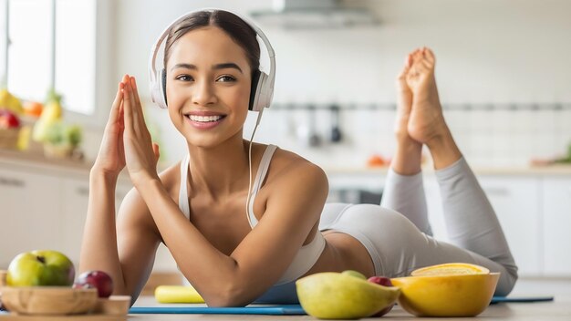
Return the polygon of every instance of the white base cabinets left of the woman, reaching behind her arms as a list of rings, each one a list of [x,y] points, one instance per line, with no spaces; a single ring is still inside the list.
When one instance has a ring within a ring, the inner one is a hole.
[[[130,191],[120,179],[119,205]],[[0,169],[0,269],[22,252],[57,250],[79,262],[89,196],[88,170],[2,164]]]

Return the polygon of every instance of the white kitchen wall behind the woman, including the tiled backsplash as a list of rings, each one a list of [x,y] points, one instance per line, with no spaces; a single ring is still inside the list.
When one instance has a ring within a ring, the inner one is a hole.
[[[355,1],[357,2],[357,1]],[[277,103],[392,103],[394,76],[414,47],[437,54],[437,79],[445,104],[571,102],[571,2],[565,0],[371,0],[381,20],[376,28],[285,31],[265,27],[277,54]],[[247,13],[271,7],[270,0],[116,3],[115,73],[146,82],[148,55],[156,36],[172,19],[202,6]],[[264,26],[262,26],[264,27]],[[148,91],[140,86],[143,98]],[[109,93],[109,97],[113,94]],[[184,142],[164,110],[148,106],[161,129],[168,160],[184,152]],[[462,150],[472,163],[525,164],[532,156],[552,156],[571,140],[571,111],[449,110]],[[346,140],[309,150],[298,140],[306,113],[268,110],[256,140],[296,150],[320,164],[362,165],[370,153],[389,155],[393,142],[391,110],[343,113]],[[318,115],[327,135],[329,114]],[[246,134],[253,123],[246,124]],[[89,153],[89,152],[88,152]],[[93,154],[93,151],[91,151]],[[349,156],[350,155],[350,156]]]

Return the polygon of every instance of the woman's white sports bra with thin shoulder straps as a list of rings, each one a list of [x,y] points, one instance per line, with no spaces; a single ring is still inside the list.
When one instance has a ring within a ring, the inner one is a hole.
[[[277,147],[275,145],[268,145],[266,147],[264,155],[262,156],[262,161],[260,161],[260,166],[255,175],[254,186],[250,194],[250,202],[248,203],[248,216],[249,216],[250,226],[253,229],[255,225],[258,223],[258,220],[254,216],[254,199],[257,193],[262,188],[262,183],[265,179],[265,175],[267,174],[267,170],[270,166],[270,161],[272,160],[272,156],[274,155],[274,151],[276,150],[276,148]],[[190,157],[189,155],[187,155],[181,161],[181,188],[179,191],[179,207],[188,219],[190,219],[190,213],[191,213],[189,206],[188,191],[186,188],[186,181],[188,181],[189,164],[190,164]],[[321,233],[317,232],[316,236],[313,238],[313,240],[310,243],[303,245],[299,249],[299,251],[297,251],[294,261],[292,261],[289,267],[287,267],[285,273],[280,277],[279,281],[274,286],[291,283],[295,281],[297,278],[299,278],[301,275],[306,274],[306,272],[309,271],[309,269],[314,264],[316,264],[317,259],[323,252],[324,248],[325,248],[325,238]]]

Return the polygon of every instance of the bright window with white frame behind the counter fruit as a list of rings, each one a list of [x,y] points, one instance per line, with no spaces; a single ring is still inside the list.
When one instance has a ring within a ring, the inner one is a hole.
[[[18,98],[43,101],[55,84],[64,108],[95,112],[96,0],[0,0],[7,87]],[[54,10],[55,5],[55,10]],[[7,10],[6,10],[7,9]],[[54,19],[55,13],[55,19]],[[8,19],[9,46],[5,46]],[[55,32],[54,32],[55,31]],[[55,35],[55,39],[54,39]],[[53,50],[55,48],[55,57]]]

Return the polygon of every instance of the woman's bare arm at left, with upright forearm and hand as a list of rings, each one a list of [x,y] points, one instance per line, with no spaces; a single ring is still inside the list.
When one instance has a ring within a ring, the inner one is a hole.
[[[115,189],[119,172],[125,167],[123,135],[122,91],[124,81],[119,88],[109,121],[103,134],[99,154],[89,175],[88,213],[84,227],[79,273],[88,270],[101,270],[113,279],[114,294],[133,295],[140,291],[140,283],[149,273],[159,238],[152,233],[144,220],[132,218],[144,217],[148,213],[146,206],[137,207],[133,196],[128,195],[119,211],[121,232],[116,233]],[[132,193],[130,193],[132,194]],[[140,202],[141,203],[141,202]],[[144,203],[143,203],[144,205]],[[148,215],[149,216],[149,215]],[[149,216],[150,217],[150,216]],[[128,240],[128,242],[125,242]],[[138,253],[138,255],[132,255]],[[137,279],[134,282],[133,279]],[[136,290],[136,289],[139,290]]]

